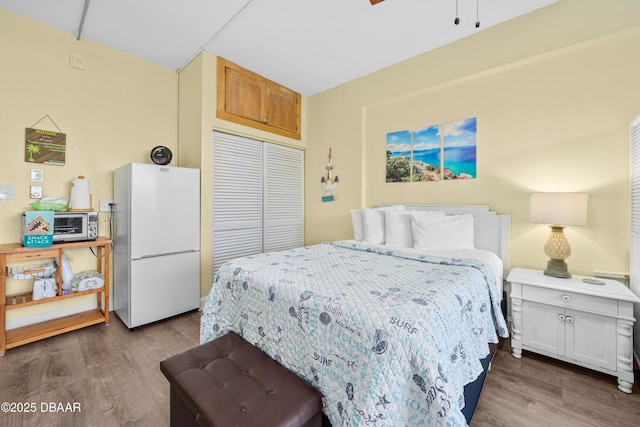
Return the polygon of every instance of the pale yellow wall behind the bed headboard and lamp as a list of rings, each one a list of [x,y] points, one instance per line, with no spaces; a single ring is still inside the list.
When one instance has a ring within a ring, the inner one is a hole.
[[[629,271],[629,123],[640,114],[640,3],[564,0],[308,100],[306,241],[352,236],[350,208],[469,203],[512,215],[512,266],[543,268],[532,191],[586,191],[573,273]],[[386,135],[477,117],[477,179],[385,183]],[[322,203],[329,147],[340,176]]]

